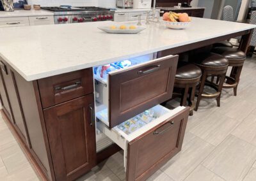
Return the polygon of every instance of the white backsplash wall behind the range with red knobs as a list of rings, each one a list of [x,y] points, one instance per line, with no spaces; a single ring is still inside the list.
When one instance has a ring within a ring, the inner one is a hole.
[[[98,2],[99,0],[28,0],[28,4],[40,4],[41,6],[98,6]]]

